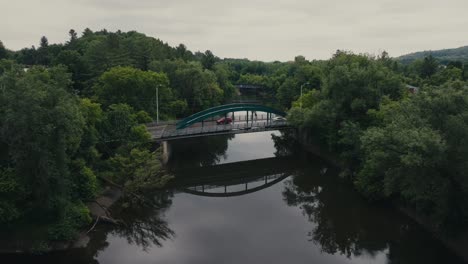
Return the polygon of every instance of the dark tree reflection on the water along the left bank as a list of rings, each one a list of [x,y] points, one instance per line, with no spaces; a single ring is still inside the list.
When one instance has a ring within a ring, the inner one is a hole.
[[[174,238],[175,232],[164,219],[164,213],[172,204],[173,193],[160,192],[154,197],[153,206],[140,205],[133,208],[117,206],[112,214],[123,221],[122,225],[100,225],[90,233],[91,240],[84,249],[71,249],[40,255],[0,255],[1,263],[68,263],[99,264],[102,254],[112,244],[112,239],[125,239],[126,247],[134,245],[144,252],[152,247],[162,247],[166,240]],[[118,254],[118,252],[114,252]],[[104,262],[106,263],[106,262]]]

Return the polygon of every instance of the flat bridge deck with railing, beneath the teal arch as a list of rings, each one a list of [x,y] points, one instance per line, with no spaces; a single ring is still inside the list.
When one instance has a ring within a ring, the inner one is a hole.
[[[215,122],[197,123],[191,127],[176,129],[174,124],[150,125],[147,127],[154,141],[169,141],[181,138],[203,137],[223,134],[254,133],[291,128],[286,121],[271,122],[260,120],[254,122],[236,122],[227,125],[216,125]]]

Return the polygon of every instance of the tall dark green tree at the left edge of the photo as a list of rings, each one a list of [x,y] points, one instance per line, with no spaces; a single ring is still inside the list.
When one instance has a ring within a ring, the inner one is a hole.
[[[7,153],[7,167],[1,169],[21,186],[19,210],[61,215],[84,127],[78,100],[69,93],[69,74],[63,67],[33,67],[8,72],[1,81],[0,144]]]

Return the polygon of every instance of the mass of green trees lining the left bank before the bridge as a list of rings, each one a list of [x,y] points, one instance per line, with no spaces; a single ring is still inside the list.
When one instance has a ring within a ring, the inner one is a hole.
[[[4,60],[0,69],[2,229],[69,240],[91,221],[85,203],[98,179],[134,193],[167,179],[142,125],[146,112],[77,96],[63,66],[25,72]]]

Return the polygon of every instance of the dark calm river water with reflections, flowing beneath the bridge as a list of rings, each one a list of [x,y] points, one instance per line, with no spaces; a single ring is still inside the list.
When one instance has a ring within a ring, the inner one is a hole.
[[[0,263],[462,263],[284,137],[197,138],[171,148],[176,178],[155,195],[159,209],[122,211],[128,226],[100,227],[87,249]]]

